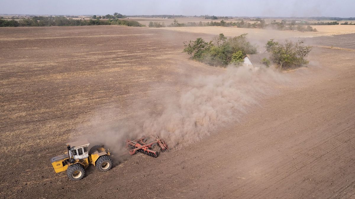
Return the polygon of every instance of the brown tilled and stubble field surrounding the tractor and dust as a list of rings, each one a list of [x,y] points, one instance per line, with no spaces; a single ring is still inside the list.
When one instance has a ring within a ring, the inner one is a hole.
[[[219,30],[229,31],[214,31]],[[181,53],[182,41],[209,40],[215,33],[121,26],[0,32],[1,198],[355,194],[353,50],[314,47],[310,66],[283,73],[292,84],[271,85],[277,92],[260,96],[260,106],[249,108],[238,123],[156,159],[116,158],[109,172],[89,169],[83,180],[71,182],[49,163],[67,140],[99,136],[120,128],[122,120],[139,123],[143,112],[162,112],[164,95],[179,96],[189,79],[226,72]],[[249,39],[261,43],[269,36],[260,32]],[[306,39],[315,46],[354,49],[347,45],[351,41],[354,34]]]

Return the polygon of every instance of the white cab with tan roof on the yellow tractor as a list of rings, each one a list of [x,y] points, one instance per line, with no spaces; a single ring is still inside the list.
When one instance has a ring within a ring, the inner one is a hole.
[[[89,157],[89,151],[88,151],[89,144],[90,143],[86,139],[84,139],[76,142],[69,142],[66,145],[69,149],[70,157],[73,157],[74,160],[76,159],[81,160]]]

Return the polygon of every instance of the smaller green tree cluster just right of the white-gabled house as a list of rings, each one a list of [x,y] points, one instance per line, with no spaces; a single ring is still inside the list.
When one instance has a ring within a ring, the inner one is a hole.
[[[266,49],[271,53],[271,59],[278,68],[288,69],[290,67],[300,67],[307,64],[305,58],[311,51],[310,46],[305,46],[303,41],[289,41],[285,40],[280,44],[275,42],[274,39],[266,43]]]

